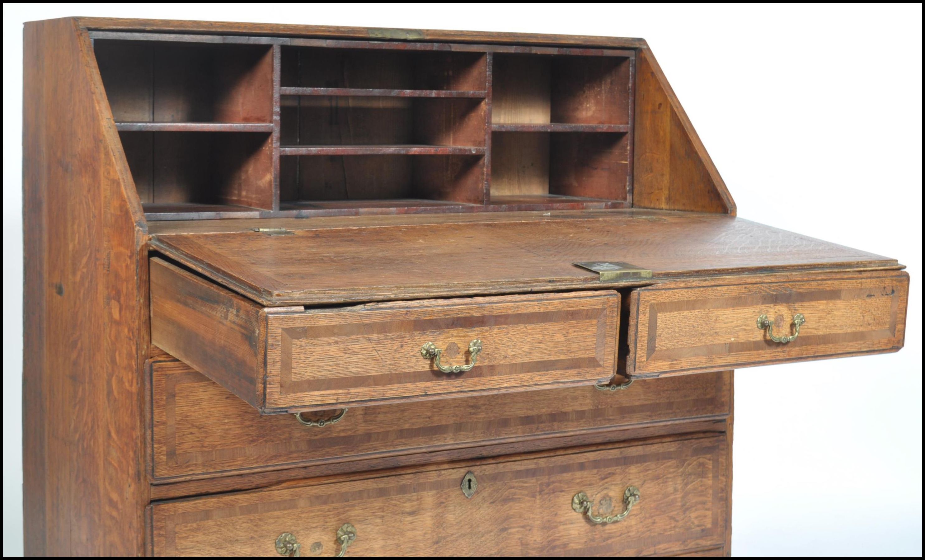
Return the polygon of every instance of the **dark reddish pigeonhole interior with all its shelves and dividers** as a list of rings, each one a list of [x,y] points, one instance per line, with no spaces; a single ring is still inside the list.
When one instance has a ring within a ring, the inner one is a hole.
[[[632,204],[635,51],[97,33],[149,219]]]

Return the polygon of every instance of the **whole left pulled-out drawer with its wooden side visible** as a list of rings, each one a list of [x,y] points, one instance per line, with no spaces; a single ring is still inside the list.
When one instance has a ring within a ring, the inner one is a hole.
[[[265,414],[605,382],[610,290],[264,307],[151,259],[152,342]]]

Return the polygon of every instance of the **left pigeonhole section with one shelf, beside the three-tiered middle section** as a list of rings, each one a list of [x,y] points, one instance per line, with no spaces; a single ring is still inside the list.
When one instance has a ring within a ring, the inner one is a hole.
[[[273,48],[94,41],[149,215],[273,209]]]

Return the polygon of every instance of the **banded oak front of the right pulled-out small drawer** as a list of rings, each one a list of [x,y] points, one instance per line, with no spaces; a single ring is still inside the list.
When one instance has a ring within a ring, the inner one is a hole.
[[[905,272],[890,272],[636,290],[626,370],[650,377],[896,351],[908,285]]]

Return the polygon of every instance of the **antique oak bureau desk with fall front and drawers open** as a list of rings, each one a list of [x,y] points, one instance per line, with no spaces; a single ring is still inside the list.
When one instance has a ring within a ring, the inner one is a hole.
[[[903,345],[903,267],[735,218],[641,39],[24,62],[27,554],[730,554],[732,370]]]

